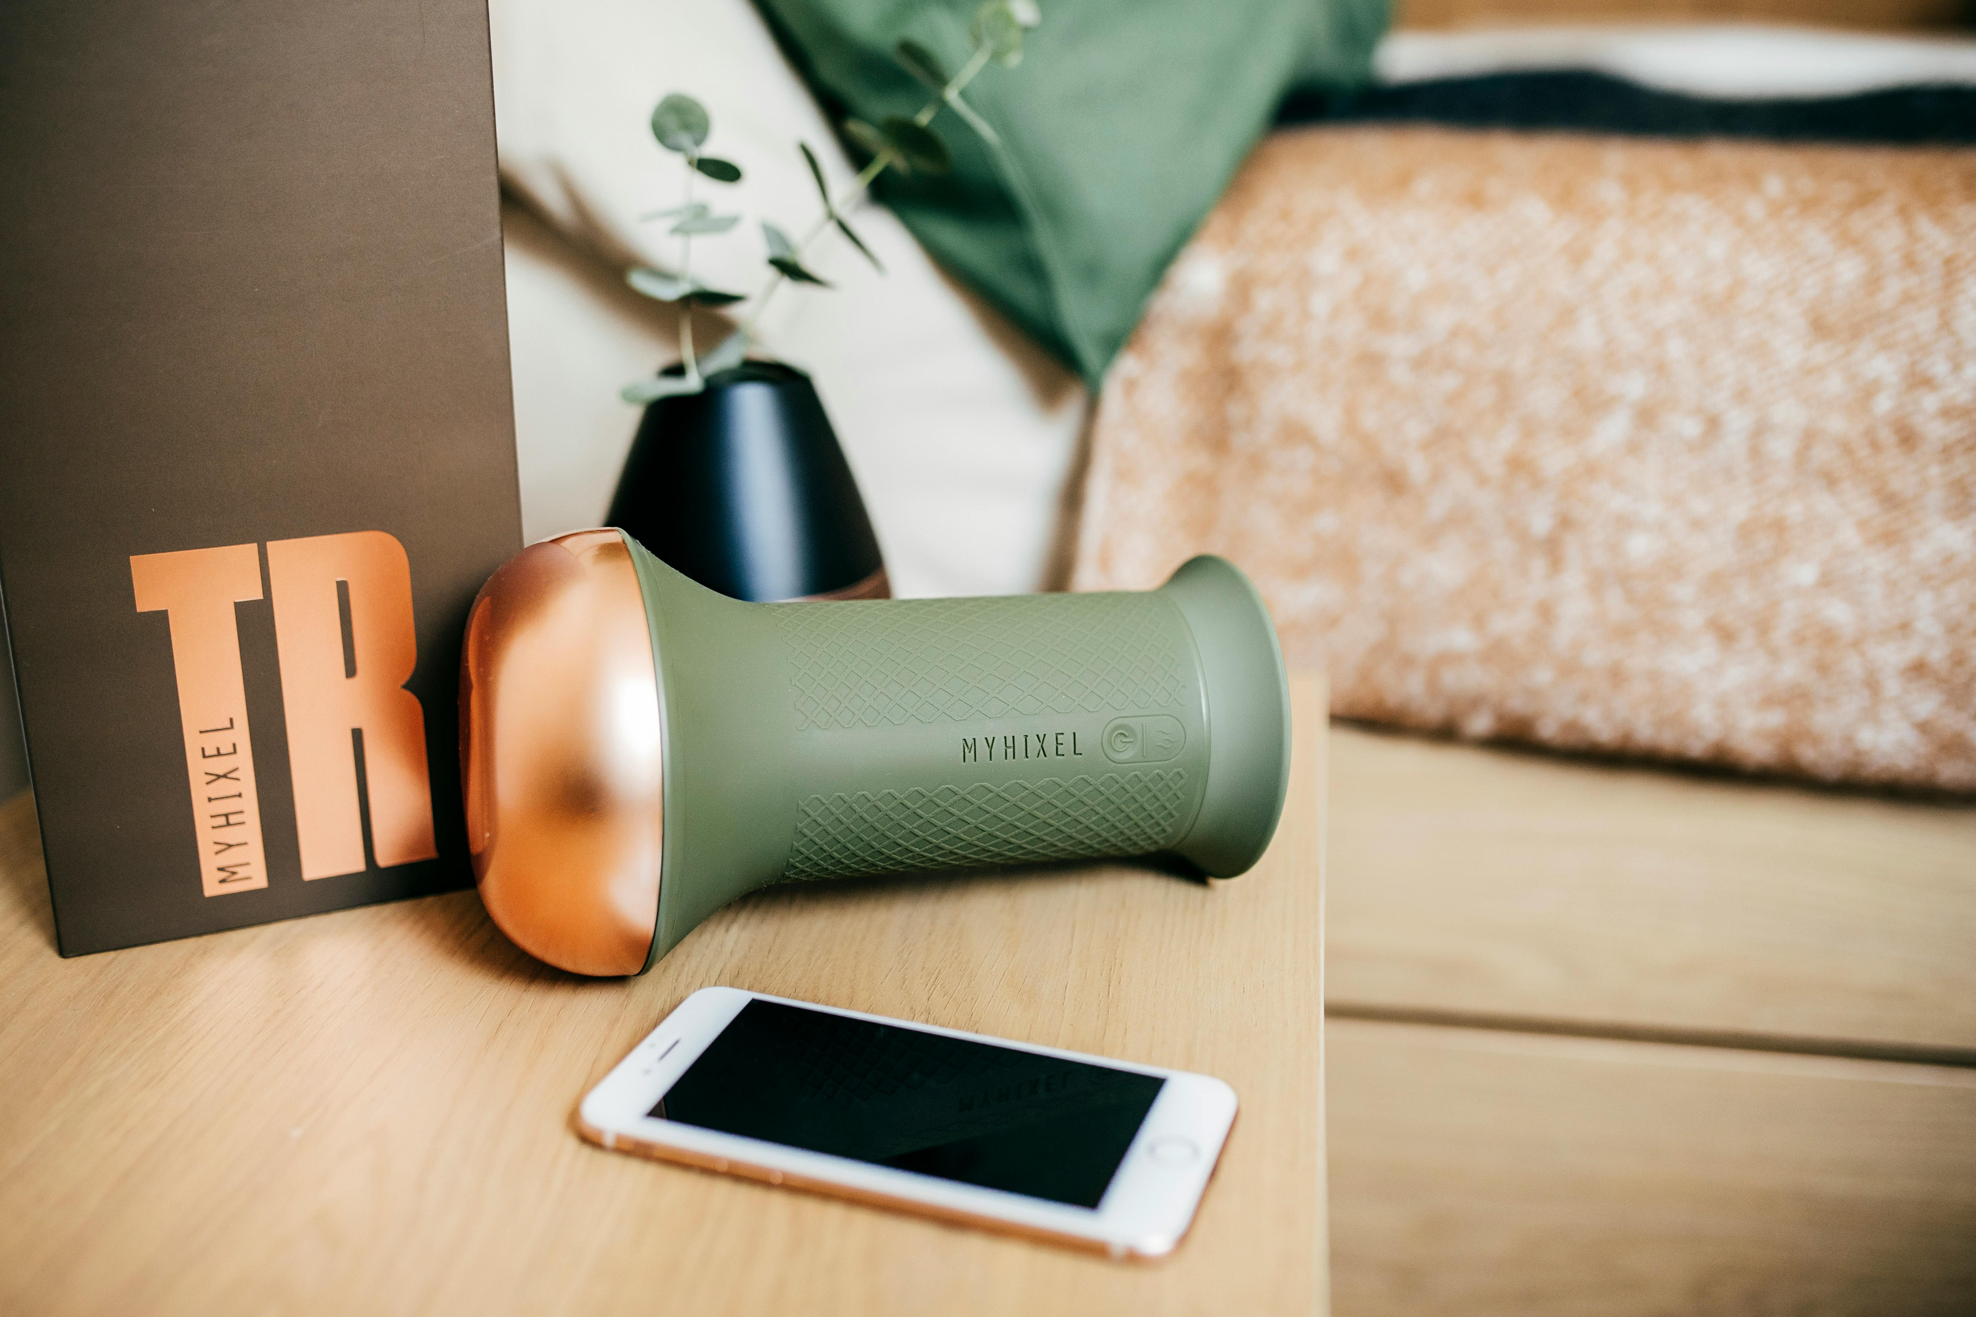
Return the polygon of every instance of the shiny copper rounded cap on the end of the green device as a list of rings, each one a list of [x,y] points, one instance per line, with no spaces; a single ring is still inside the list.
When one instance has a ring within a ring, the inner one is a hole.
[[[530,545],[480,586],[460,658],[474,879],[514,942],[573,973],[638,973],[664,839],[658,673],[618,531]]]

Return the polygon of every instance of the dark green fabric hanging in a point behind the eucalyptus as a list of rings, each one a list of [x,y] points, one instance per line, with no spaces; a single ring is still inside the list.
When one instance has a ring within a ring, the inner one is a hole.
[[[757,0],[832,118],[913,115],[901,39],[948,69],[978,0]],[[1221,197],[1288,91],[1367,79],[1389,0],[1041,0],[1014,69],[952,113],[945,176],[877,195],[933,257],[1097,389],[1168,261]]]

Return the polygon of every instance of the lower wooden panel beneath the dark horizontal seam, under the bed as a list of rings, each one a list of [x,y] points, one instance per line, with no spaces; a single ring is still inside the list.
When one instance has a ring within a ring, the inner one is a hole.
[[[1334,1311],[1966,1315],[1976,1072],[1330,1025]]]

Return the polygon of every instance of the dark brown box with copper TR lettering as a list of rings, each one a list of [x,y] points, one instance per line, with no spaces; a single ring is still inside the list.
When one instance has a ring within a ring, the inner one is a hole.
[[[520,547],[480,0],[0,10],[0,586],[63,956],[472,881]]]

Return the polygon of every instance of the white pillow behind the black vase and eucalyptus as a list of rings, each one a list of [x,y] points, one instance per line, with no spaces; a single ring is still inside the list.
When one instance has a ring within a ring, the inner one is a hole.
[[[711,113],[707,154],[745,172],[735,186],[696,182],[696,199],[745,215],[735,231],[694,243],[694,272],[713,286],[753,292],[761,284],[761,219],[800,237],[820,215],[798,138],[834,188],[854,176],[747,0],[492,0],[488,14],[506,188],[617,269],[678,265],[678,239],[666,237],[666,225],[638,219],[682,195],[680,158],[648,128],[652,107],[672,91]],[[881,205],[862,207],[854,225],[885,274],[828,235],[808,263],[836,286],[777,292],[761,326],[763,349],[816,379],[893,588],[1000,594],[1051,584],[1061,573],[1059,523],[1087,413],[1083,385],[943,274]],[[524,519],[537,537],[573,529],[563,521],[585,507],[595,511],[575,521],[599,521],[622,460],[622,446],[595,444],[563,460],[557,419],[581,423],[597,407],[615,407],[628,446],[638,413],[611,397],[628,377],[611,381],[605,399],[591,397],[605,391],[595,371],[581,395],[557,393],[555,344],[569,338],[571,316],[583,314],[591,294],[567,278],[557,286],[553,257],[539,241],[534,247],[520,265],[510,255],[510,318],[518,320]],[[650,304],[656,340],[607,328],[626,314],[615,298],[599,304],[595,332],[636,349],[662,342],[664,359],[676,359],[670,308]],[[698,342],[707,348],[715,338],[717,330]]]

